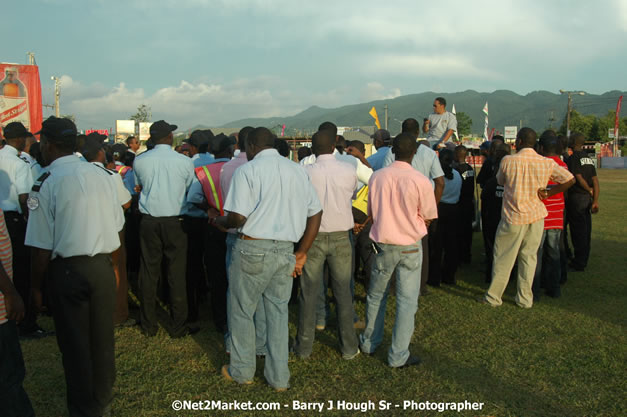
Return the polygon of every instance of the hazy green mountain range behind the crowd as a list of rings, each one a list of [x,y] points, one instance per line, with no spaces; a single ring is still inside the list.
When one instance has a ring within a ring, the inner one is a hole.
[[[618,98],[626,92],[608,91],[603,94],[572,95],[572,108],[581,114],[605,116],[608,111],[616,109]],[[481,134],[484,126],[483,107],[488,102],[489,128],[503,131],[505,126],[528,126],[536,130],[549,127],[558,129],[566,116],[568,98],[566,94],[549,91],[534,91],[527,95],[519,95],[509,90],[497,90],[492,93],[480,93],[466,90],[457,93],[424,92],[409,94],[393,99],[376,100],[367,103],[351,104],[338,108],[311,106],[293,116],[268,118],[249,118],[235,120],[223,125],[224,128],[240,128],[244,126],[286,125],[286,135],[296,131],[312,133],[324,121],[332,121],[338,126],[369,126],[374,119],[368,114],[374,106],[377,110],[382,127],[384,123],[384,106],[388,106],[388,130],[392,134],[400,131],[401,121],[414,117],[421,124],[422,119],[432,112],[433,100],[442,96],[447,101],[447,110],[455,105],[456,111],[466,113],[472,119],[472,132]]]

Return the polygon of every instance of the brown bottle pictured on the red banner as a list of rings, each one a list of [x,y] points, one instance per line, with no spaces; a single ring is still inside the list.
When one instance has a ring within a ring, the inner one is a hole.
[[[30,128],[30,112],[28,109],[28,91],[19,78],[16,67],[6,67],[0,80],[0,124],[6,126],[11,122],[22,122]]]

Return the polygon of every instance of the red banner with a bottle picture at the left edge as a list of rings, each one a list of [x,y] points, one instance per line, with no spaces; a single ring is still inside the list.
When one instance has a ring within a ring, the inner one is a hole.
[[[39,68],[0,63],[0,125],[22,122],[34,133],[41,130],[41,121]]]

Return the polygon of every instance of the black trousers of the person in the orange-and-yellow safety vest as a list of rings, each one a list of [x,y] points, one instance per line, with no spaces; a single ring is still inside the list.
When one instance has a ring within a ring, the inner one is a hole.
[[[207,241],[205,258],[207,259],[207,276],[211,286],[211,311],[213,322],[219,331],[226,330],[226,233],[213,226],[206,226]]]

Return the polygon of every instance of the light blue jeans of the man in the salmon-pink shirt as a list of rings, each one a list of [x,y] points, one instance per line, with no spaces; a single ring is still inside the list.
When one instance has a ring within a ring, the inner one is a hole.
[[[396,268],[396,319],[388,364],[399,367],[409,358],[409,342],[414,333],[414,316],[420,295],[422,244],[399,246],[379,243],[381,251],[372,265],[372,276],[366,298],[366,330],[360,337],[363,352],[372,353],[383,340],[385,306],[390,278]]]

